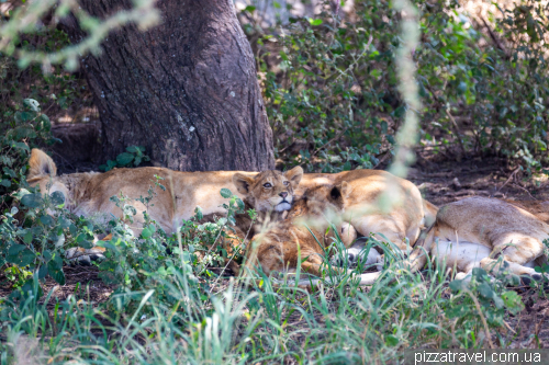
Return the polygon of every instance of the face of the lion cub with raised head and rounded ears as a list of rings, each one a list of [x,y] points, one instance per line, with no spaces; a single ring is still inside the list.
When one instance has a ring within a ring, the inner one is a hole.
[[[236,173],[233,183],[248,203],[258,212],[283,212],[292,207],[294,190],[303,169],[295,167],[287,172],[267,170],[254,178]]]

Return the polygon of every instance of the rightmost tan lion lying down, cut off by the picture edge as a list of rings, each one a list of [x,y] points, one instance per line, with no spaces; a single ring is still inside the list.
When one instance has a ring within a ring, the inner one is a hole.
[[[463,274],[473,267],[497,271],[506,262],[514,274],[540,278],[533,266],[536,260],[545,260],[542,241],[549,238],[549,225],[539,218],[546,217],[546,206],[485,197],[448,204],[438,210],[424,244],[412,253],[410,266],[421,269],[427,252],[450,266],[456,264]]]

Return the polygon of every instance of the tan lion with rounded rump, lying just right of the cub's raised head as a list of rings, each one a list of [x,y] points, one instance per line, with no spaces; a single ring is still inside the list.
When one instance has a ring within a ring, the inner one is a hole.
[[[371,236],[395,249],[396,253],[403,255],[410,253],[421,231],[434,223],[438,210],[435,205],[423,199],[417,186],[412,182],[386,171],[354,170],[332,175],[311,174],[310,179],[309,182],[301,183],[303,189],[315,186],[311,181],[316,184],[337,185],[343,182],[349,184],[349,193],[341,197],[340,212],[343,220],[347,221],[359,237],[362,237],[347,248],[347,258],[344,261],[350,264],[356,264],[358,261],[366,264],[377,262],[377,269],[381,270],[381,262],[383,262],[381,248],[365,250],[367,238]],[[388,212],[382,202],[383,193],[386,191],[400,196],[400,204]],[[325,196],[324,199],[329,199],[329,196]],[[365,256],[367,252],[368,256]],[[334,264],[343,264],[340,256],[332,260]],[[361,283],[373,284],[374,280],[370,280],[369,276],[371,275],[365,274]]]

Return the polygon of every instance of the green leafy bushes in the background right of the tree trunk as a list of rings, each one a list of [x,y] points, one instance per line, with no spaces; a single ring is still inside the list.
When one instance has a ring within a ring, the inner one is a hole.
[[[492,39],[457,1],[415,4],[422,142],[539,169],[549,122],[547,9],[525,0],[492,14]],[[357,1],[347,19],[323,9],[272,30],[248,21],[255,7],[240,14],[257,48],[277,156],[314,170],[372,168],[388,157],[406,112],[395,73],[401,15],[389,1]]]

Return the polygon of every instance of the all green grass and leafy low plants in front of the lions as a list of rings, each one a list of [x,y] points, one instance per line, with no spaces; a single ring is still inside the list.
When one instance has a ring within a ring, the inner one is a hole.
[[[152,180],[150,204],[159,185]],[[1,266],[13,288],[0,303],[0,362],[392,363],[419,345],[506,347],[516,335],[504,321],[524,308],[506,286],[517,277],[491,281],[480,269],[467,285],[452,281],[445,265],[412,274],[388,259],[371,287],[350,277],[311,292],[291,277],[277,285],[265,275],[257,282],[217,277],[194,253],[215,247],[239,209],[236,197],[223,194],[229,201],[221,221],[200,225],[197,210],[177,235],[167,235],[147,218],[138,237],[128,224],[133,198],[113,197],[125,219],[111,219],[113,236],[101,243],[109,250],[97,264],[100,276],[115,289],[100,305],[90,300],[89,286],[59,300],[56,287],[43,293],[42,283],[49,275],[63,285],[64,251],[91,247],[104,226],[68,214],[59,193],[20,194],[19,209],[0,225],[8,238]],[[211,252],[222,261],[222,252]]]

